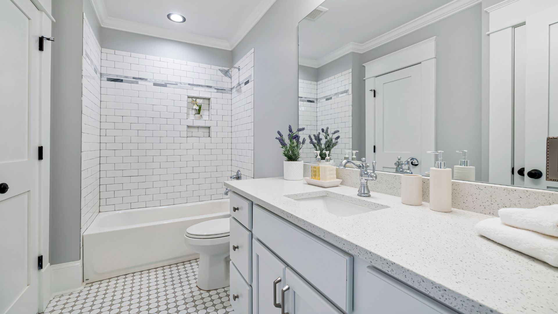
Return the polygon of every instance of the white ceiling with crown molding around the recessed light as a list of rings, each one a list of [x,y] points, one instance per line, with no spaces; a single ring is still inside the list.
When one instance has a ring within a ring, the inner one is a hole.
[[[101,26],[232,50],[276,0],[92,0]],[[179,13],[186,22],[167,18]]]

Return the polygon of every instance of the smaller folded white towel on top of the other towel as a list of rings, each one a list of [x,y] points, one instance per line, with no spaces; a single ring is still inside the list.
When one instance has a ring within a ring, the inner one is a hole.
[[[498,216],[508,226],[558,236],[558,204],[537,208],[502,208]]]

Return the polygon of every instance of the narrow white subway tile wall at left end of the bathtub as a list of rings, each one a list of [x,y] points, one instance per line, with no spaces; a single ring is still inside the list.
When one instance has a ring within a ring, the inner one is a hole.
[[[101,47],[85,15],[81,66],[81,233],[99,213]]]

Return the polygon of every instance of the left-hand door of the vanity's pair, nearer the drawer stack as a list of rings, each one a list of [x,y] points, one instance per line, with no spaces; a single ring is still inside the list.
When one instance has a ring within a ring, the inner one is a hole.
[[[258,240],[252,240],[252,313],[281,313],[285,268],[286,265],[275,254]]]

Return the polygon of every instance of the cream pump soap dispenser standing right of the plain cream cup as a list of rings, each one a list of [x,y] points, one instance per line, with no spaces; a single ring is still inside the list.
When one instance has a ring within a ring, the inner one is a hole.
[[[434,168],[430,168],[430,209],[451,212],[451,168],[446,168],[444,151],[427,151],[438,154]]]

